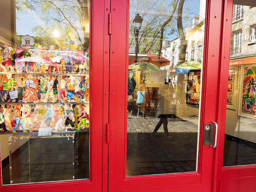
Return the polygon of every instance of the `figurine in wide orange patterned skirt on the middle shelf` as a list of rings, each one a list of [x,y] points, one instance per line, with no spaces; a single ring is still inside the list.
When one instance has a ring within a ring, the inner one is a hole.
[[[26,79],[26,81],[24,82],[24,86],[26,87],[25,90],[25,95],[22,98],[22,102],[34,102],[37,103],[39,102],[38,98],[37,98],[37,94],[36,94],[36,84],[33,81],[34,76],[29,74],[28,78]]]

